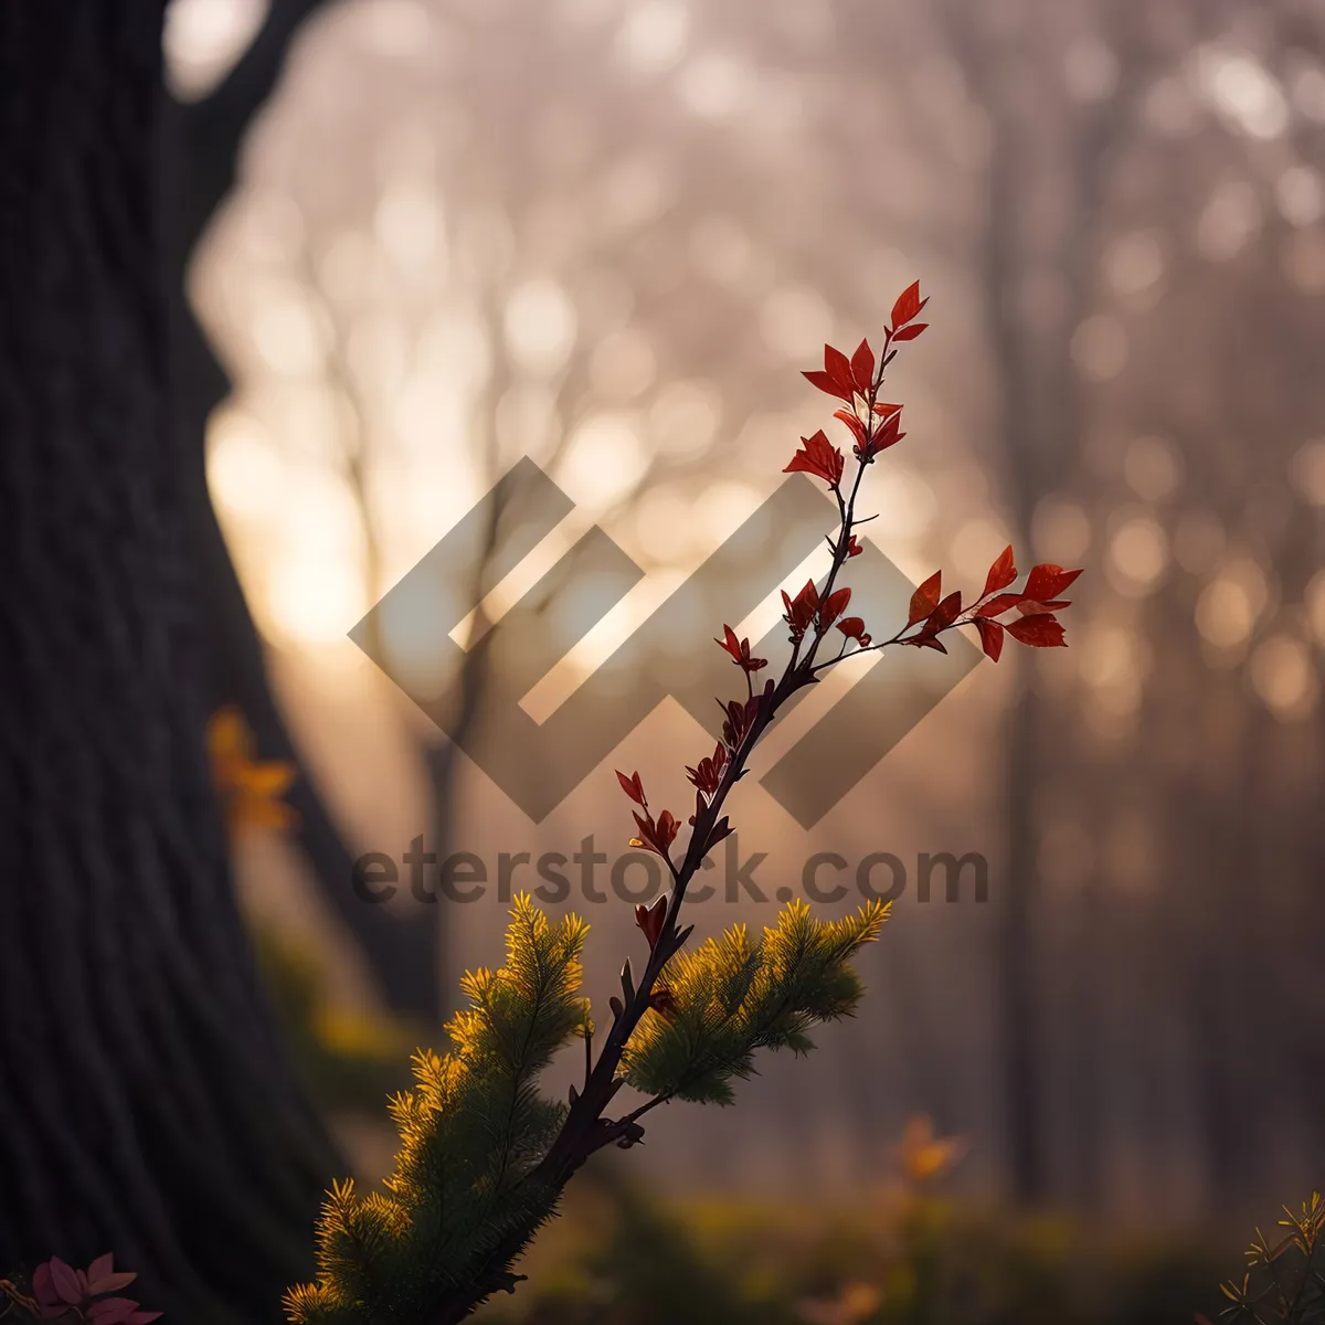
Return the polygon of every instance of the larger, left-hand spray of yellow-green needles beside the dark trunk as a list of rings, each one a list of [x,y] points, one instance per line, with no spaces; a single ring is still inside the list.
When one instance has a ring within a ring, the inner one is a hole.
[[[553,1053],[588,1034],[576,996],[588,926],[553,925],[527,897],[515,900],[506,965],[468,974],[469,1007],[447,1030],[445,1057],[415,1056],[415,1086],[391,1101],[400,1129],[386,1194],[337,1185],[318,1224],[317,1284],[292,1289],[299,1322],[421,1322],[449,1289],[478,1279],[511,1235],[531,1234],[556,1191],[530,1182],[566,1117],[538,1093]]]

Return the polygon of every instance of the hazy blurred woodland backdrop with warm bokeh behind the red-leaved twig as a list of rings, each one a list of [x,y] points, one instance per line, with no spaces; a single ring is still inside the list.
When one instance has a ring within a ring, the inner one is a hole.
[[[799,371],[920,278],[868,537],[917,582],[978,587],[1007,542],[1085,566],[1072,647],[978,668],[808,832],[743,784],[770,894],[816,851],[953,851],[990,900],[912,886],[859,1019],[734,1110],[662,1110],[632,1167],[851,1203],[925,1114],[977,1206],[1167,1236],[1320,1181],[1318,0],[172,0],[164,58],[208,708],[299,770],[235,873],[358,1171],[506,908],[368,906],[351,860],[616,852],[613,761],[678,800],[706,737],[665,704],[534,825],[347,631],[531,456],[576,509],[478,619],[591,525],[648,572],[526,700],[551,712],[778,485],[824,417]],[[449,680],[429,623],[386,643]],[[606,996],[629,908],[567,905]]]

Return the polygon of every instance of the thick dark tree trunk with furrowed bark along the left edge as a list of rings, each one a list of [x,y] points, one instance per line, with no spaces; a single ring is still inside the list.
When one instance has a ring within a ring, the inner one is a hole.
[[[156,241],[160,4],[0,9],[0,1261],[280,1318],[334,1159],[208,779]]]

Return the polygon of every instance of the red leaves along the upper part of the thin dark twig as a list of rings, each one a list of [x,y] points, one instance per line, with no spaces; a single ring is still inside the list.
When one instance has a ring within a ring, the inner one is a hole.
[[[1060,566],[1045,563],[1032,568],[1022,590],[1012,590],[1018,570],[1011,547],[990,567],[983,594],[965,610],[961,592],[943,596],[942,575],[935,572],[916,590],[905,625],[890,639],[874,643],[863,617],[844,615],[851,603],[851,590],[836,586],[835,579],[845,563],[861,553],[852,526],[860,523],[855,515],[855,501],[864,468],[906,436],[901,431],[902,407],[878,399],[884,370],[896,358],[898,344],[914,341],[926,329],[928,323],[916,319],[928,302],[921,298],[917,281],[904,290],[893,305],[889,325],[884,329],[882,352],[877,358],[868,341],[861,341],[849,358],[841,350],[824,346],[823,368],[804,374],[812,386],[843,401],[843,407],[833,417],[845,424],[851,432],[852,454],[857,461],[853,486],[849,494],[844,493],[845,457],[820,429],[811,437],[800,439],[800,449],[783,470],[822,478],[837,498],[841,530],[836,542],[829,539],[833,550],[833,571],[823,587],[807,580],[795,596],[786,591],[782,594],[786,610],[783,620],[790,631],[792,656],[780,689],[779,682],[770,678],[761,692],[755,690],[754,674],[768,665],[767,659],[753,657],[750,641],[739,639],[730,625],[722,627],[722,639],[716,643],[743,673],[747,694],[745,700],[718,701],[723,713],[722,739],[712,755],[701,759],[696,767],[685,770],[696,788],[694,814],[689,820],[692,827],[696,827],[698,816],[705,810],[725,795],[730,782],[739,776],[742,770],[735,765],[743,762],[743,747],[750,741],[751,733],[757,727],[762,730],[761,721],[766,722],[772,717],[775,696],[786,696],[800,685],[808,685],[815,680],[815,673],[847,656],[892,644],[909,644],[946,653],[939,635],[961,625],[977,629],[984,652],[994,661],[998,661],[1003,651],[1004,635],[1011,635],[1018,643],[1034,648],[1065,644],[1063,625],[1055,612],[1069,606],[1061,595],[1081,572],[1065,571]],[[815,651],[831,628],[836,628],[843,636],[841,652],[816,664]],[[848,655],[847,648],[852,641],[856,648]],[[617,772],[616,776],[621,788],[640,810],[635,814],[640,836],[633,839],[631,845],[657,852],[676,873],[670,847],[678,829],[677,819],[669,811],[662,811],[655,819],[637,772],[631,776]],[[730,832],[726,818],[719,819],[710,829],[698,859]],[[694,859],[693,852],[692,859]],[[655,949],[664,933],[666,898],[659,898],[652,906],[637,906],[635,918],[648,938],[651,950]]]

